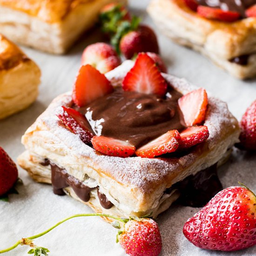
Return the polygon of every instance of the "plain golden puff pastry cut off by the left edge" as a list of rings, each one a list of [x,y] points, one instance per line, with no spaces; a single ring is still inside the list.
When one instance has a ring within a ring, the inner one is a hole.
[[[39,83],[39,67],[0,34],[0,119],[33,103]]]

